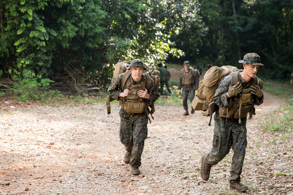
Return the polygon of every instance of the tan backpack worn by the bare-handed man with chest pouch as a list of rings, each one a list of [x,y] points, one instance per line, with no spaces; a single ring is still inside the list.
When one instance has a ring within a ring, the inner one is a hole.
[[[121,73],[125,73],[121,79],[121,86],[124,88],[127,79],[131,76],[131,71],[129,71],[127,68],[129,67],[130,62],[129,61],[123,61],[123,62],[118,62],[116,64],[114,73],[113,73],[113,78],[111,80],[111,83],[113,83],[113,81],[118,77],[118,75],[120,75]],[[146,88],[149,89],[152,85],[152,80],[154,80],[154,82],[156,83],[156,86],[159,87],[160,86],[160,76],[161,73],[159,70],[153,70],[151,67],[147,66],[144,64],[144,66],[147,68],[147,71],[144,70],[144,74],[146,75]],[[110,94],[108,95],[108,98],[106,100],[106,106],[107,106],[107,113],[110,114],[111,113],[111,105],[110,102],[114,101],[115,99],[110,96]],[[151,118],[154,119],[153,117],[153,113],[155,112],[155,106],[154,104],[149,105],[149,107],[151,108],[150,113],[147,113],[147,115],[151,114]],[[151,120],[149,118],[149,121],[151,123]]]

